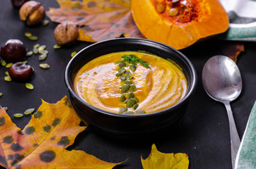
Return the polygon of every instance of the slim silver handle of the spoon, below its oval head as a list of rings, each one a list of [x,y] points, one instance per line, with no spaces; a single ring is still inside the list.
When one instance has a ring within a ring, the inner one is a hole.
[[[240,138],[238,135],[238,130],[235,126],[235,120],[233,118],[233,113],[231,110],[231,105],[229,103],[224,103],[226,109],[228,111],[228,121],[229,121],[229,129],[231,132],[231,160],[232,160],[232,168],[235,168],[235,156],[238,154],[238,149],[240,146]]]

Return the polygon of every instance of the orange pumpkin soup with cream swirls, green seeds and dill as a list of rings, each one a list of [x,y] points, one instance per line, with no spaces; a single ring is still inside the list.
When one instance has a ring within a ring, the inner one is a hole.
[[[105,111],[141,114],[176,104],[187,80],[173,62],[144,52],[123,51],[93,59],[78,70],[77,94]]]

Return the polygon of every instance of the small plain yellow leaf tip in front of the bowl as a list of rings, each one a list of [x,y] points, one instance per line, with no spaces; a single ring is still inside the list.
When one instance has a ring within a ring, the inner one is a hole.
[[[187,169],[189,159],[187,154],[164,154],[156,149],[153,144],[151,154],[145,160],[141,156],[141,163],[144,169]]]

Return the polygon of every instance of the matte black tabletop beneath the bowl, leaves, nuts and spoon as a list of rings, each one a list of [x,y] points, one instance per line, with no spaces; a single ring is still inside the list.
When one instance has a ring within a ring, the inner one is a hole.
[[[40,1],[45,6],[58,7],[57,1]],[[49,18],[45,18],[49,19]],[[13,118],[14,113],[23,113],[28,108],[37,109],[41,99],[56,103],[68,95],[64,84],[64,70],[71,59],[72,51],[79,51],[90,43],[76,42],[74,46],[53,49],[54,28],[57,23],[50,22],[47,26],[27,27],[19,20],[18,10],[11,6],[11,1],[0,3],[0,45],[4,46],[8,39],[21,39],[28,50],[36,43],[47,45],[49,51],[45,61],[39,61],[38,55],[25,58],[29,65],[35,68],[30,83],[33,90],[25,88],[21,82],[4,81],[4,72],[8,70],[0,65],[0,105],[8,107],[8,115],[18,127],[25,127],[30,117]],[[24,36],[31,32],[39,37],[36,42]],[[227,42],[228,43],[228,42]],[[231,168],[230,134],[228,116],[223,104],[214,101],[204,92],[202,86],[202,68],[204,63],[214,55],[223,54],[218,41],[209,39],[200,44],[181,50],[197,69],[198,85],[185,117],[180,123],[165,129],[159,134],[145,139],[117,139],[103,137],[90,128],[78,134],[75,143],[68,149],[86,151],[103,161],[120,163],[115,168],[140,169],[141,156],[146,158],[151,151],[151,145],[156,144],[158,151],[163,153],[185,153],[190,158],[190,168],[194,169],[229,169]],[[40,63],[50,64],[50,69],[39,67]],[[256,43],[245,42],[245,51],[238,56],[238,67],[243,77],[243,91],[235,101],[231,102],[233,116],[240,138],[243,137],[250,111],[256,99]],[[131,124],[132,125],[132,124]],[[2,142],[2,141],[1,141]],[[83,161],[81,161],[83,163]]]

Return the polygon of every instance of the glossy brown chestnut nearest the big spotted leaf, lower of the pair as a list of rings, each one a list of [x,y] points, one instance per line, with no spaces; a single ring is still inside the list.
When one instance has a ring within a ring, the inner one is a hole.
[[[34,70],[30,65],[26,65],[22,62],[14,63],[8,70],[11,79],[18,82],[25,82],[29,80],[33,75],[33,72]]]

